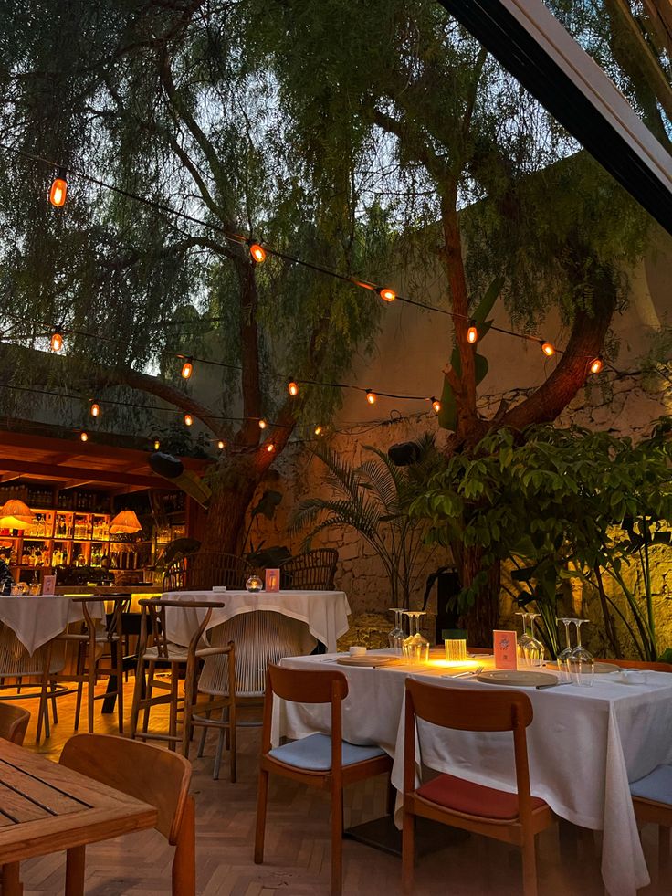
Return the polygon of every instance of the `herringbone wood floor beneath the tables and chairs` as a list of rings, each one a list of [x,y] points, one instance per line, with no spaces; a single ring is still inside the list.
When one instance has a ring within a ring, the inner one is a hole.
[[[127,686],[127,712],[132,680]],[[37,701],[21,701],[33,712]],[[58,725],[46,742],[35,745],[35,718],[26,735],[26,747],[53,760],[73,733],[74,698],[58,703]],[[152,727],[160,729],[160,712]],[[101,716],[96,707],[97,731],[115,733],[115,717]],[[84,728],[85,730],[85,723]],[[257,752],[259,730],[241,729],[238,783],[228,782],[228,767],[213,781],[215,734],[202,759],[193,759],[192,791],[196,799],[197,892],[199,896],[328,896],[330,873],[329,800],[291,782],[271,779],[264,865],[252,860]],[[193,754],[195,756],[195,747]],[[384,814],[383,778],[349,789],[345,823],[359,824]],[[656,868],[653,829],[647,833],[649,867]],[[449,832],[446,829],[446,843]],[[649,842],[650,841],[650,842]],[[540,896],[602,896],[598,859],[592,838],[584,838],[580,860],[565,857],[555,828],[539,838]],[[396,896],[401,892],[401,861],[377,849],[346,841],[344,844],[344,896]],[[25,896],[56,896],[63,892],[65,857],[62,853],[27,861],[22,866]],[[170,893],[173,849],[154,831],[94,844],[87,851],[87,896],[165,896]],[[654,872],[655,876],[655,872]],[[518,896],[518,850],[485,838],[460,839],[453,845],[419,859],[415,893],[422,896]],[[652,886],[640,896],[657,896],[666,890]]]

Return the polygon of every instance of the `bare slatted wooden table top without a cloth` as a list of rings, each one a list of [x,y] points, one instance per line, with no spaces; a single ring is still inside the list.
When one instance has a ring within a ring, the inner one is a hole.
[[[153,827],[156,817],[153,806],[0,739],[0,865]]]

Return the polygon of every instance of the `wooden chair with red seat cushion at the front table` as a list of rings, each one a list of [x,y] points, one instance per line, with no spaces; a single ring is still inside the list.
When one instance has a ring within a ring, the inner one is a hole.
[[[472,784],[453,775],[437,775],[415,787],[415,720],[467,732],[513,733],[516,794]],[[515,843],[522,848],[523,892],[536,896],[536,835],[553,823],[551,809],[530,796],[525,729],[532,704],[512,690],[481,691],[437,687],[406,679],[404,717],[404,893],[413,890],[415,817],[431,818],[474,834]]]

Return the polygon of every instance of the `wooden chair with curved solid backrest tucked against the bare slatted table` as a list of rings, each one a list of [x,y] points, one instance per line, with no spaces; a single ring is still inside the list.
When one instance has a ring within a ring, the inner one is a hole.
[[[76,734],[63,748],[59,762],[101,784],[155,806],[156,829],[175,847],[173,896],[194,896],[194,797],[189,796],[192,767],[175,753],[149,743],[110,734]],[[84,882],[85,848],[68,850],[68,883]]]

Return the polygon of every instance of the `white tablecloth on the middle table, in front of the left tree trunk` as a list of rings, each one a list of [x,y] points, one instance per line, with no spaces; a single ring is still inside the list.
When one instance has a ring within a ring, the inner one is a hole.
[[[210,617],[208,628],[214,628],[242,613],[259,610],[279,613],[304,622],[310,634],[336,649],[336,640],[348,630],[350,606],[342,591],[277,591],[251,594],[247,591],[169,591],[170,600],[221,601]],[[189,607],[166,607],[165,624],[168,638],[175,644],[188,644],[205,615],[205,610]]]

